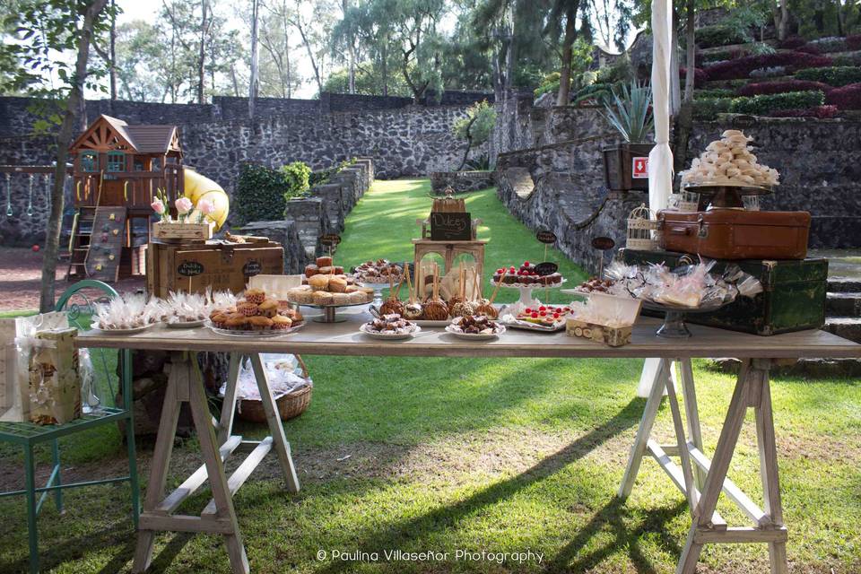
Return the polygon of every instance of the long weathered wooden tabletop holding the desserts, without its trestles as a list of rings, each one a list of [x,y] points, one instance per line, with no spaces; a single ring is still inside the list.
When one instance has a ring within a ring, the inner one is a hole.
[[[304,311],[304,309],[303,309]],[[366,308],[339,312],[343,323],[321,324],[309,319],[288,335],[247,339],[217,335],[205,327],[168,329],[154,326],[135,335],[82,333],[79,347],[159,349],[163,351],[296,352],[319,355],[444,356],[444,357],[657,357],[685,359],[796,359],[806,357],[861,357],[861,345],[824,331],[801,331],[763,337],[724,329],[690,325],[690,339],[662,339],[655,335],[658,319],[640,317],[631,344],[608,347],[564,332],[536,333],[510,329],[493,341],[465,341],[442,327],[424,327],[405,341],[380,341],[359,332],[370,319]]]

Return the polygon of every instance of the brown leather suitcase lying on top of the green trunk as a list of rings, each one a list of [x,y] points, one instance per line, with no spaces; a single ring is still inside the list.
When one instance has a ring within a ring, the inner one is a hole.
[[[660,246],[714,259],[804,259],[810,213],[734,209],[657,214]]]

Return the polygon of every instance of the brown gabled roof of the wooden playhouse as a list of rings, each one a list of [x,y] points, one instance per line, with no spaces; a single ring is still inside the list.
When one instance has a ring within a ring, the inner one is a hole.
[[[109,131],[112,134],[109,134]],[[104,114],[74,140],[71,150],[75,152],[82,148],[116,149],[117,144],[137,153],[180,151],[177,126],[152,124],[129,126],[121,119]]]

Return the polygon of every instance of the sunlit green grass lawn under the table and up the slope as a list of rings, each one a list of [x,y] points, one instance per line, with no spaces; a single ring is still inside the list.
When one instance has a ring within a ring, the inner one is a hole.
[[[348,219],[337,258],[349,265],[408,257],[414,219],[430,205],[427,188],[425,181],[375,183]],[[482,233],[491,239],[489,266],[544,255],[491,190],[469,204],[489,228]],[[561,265],[574,276],[574,265]],[[307,413],[285,424],[302,491],[282,490],[269,457],[263,478],[252,478],[236,498],[252,571],[674,571],[688,526],[682,495],[647,460],[631,499],[622,505],[614,498],[643,407],[633,397],[641,361],[306,360],[314,399]],[[695,376],[710,451],[733,379],[705,363],[695,364]],[[861,571],[861,385],[778,378],[772,388],[792,571]],[[662,408],[656,425],[665,440],[672,431],[668,411]],[[755,493],[759,460],[752,417],[749,423],[730,474]],[[239,429],[265,434],[258,426]],[[70,474],[123,467],[114,431],[68,442]],[[145,470],[152,442],[142,442]],[[195,445],[178,442],[171,485],[196,464]],[[15,464],[0,456],[0,478]],[[134,552],[127,492],[125,486],[69,492],[63,517],[46,504],[39,518],[45,571],[127,572]],[[196,496],[187,511],[199,511],[206,500]],[[746,524],[725,501],[718,509]],[[0,500],[0,512],[0,571],[21,570],[22,500]],[[387,560],[385,552],[394,550],[442,555]],[[344,561],[333,558],[335,551],[365,554]],[[464,551],[509,556],[467,559],[458,554]],[[510,555],[529,551],[523,561]],[[159,536],[156,552],[154,572],[228,571],[214,536]],[[700,569],[752,574],[767,571],[767,560],[760,546],[708,546]]]

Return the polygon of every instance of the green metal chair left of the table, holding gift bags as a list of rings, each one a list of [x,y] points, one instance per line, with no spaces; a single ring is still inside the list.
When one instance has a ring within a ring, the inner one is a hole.
[[[102,291],[103,294],[96,298],[91,297],[89,292],[83,290]],[[108,300],[117,297],[114,291],[106,283],[100,281],[85,280],[75,283],[67,289],[60,300],[57,301],[57,310],[66,310],[69,314],[69,325],[79,329],[89,326],[92,304],[100,300]],[[30,422],[0,422],[0,442],[9,442],[19,445],[24,450],[24,489],[21,491],[0,492],[0,497],[25,495],[27,499],[27,530],[30,540],[30,572],[39,571],[39,542],[36,517],[42,508],[42,503],[48,498],[48,494],[54,493],[54,501],[57,511],[63,512],[63,489],[76,488],[80,486],[92,486],[95,484],[123,483],[128,482],[132,489],[132,520],[137,529],[137,520],[140,514],[140,487],[138,485],[137,465],[135,462],[135,422],[132,408],[132,363],[131,352],[124,349],[119,352],[119,372],[121,373],[119,384],[122,387],[123,404],[121,406],[100,406],[100,408],[72,422],[57,425],[39,425]],[[96,360],[93,358],[93,363]],[[113,386],[110,383],[110,373],[104,352],[100,353],[100,367],[105,371],[108,381],[111,399],[115,396]],[[96,365],[93,365],[94,370]],[[103,424],[116,424],[125,421],[126,424],[126,446],[128,448],[128,475],[117,478],[106,478],[81,483],[64,484],[60,475],[60,447],[58,439],[75,432],[88,431]],[[53,453],[53,469],[45,486],[36,486],[36,465],[33,457],[33,448],[39,443],[50,442]],[[40,494],[37,500],[37,493]]]

